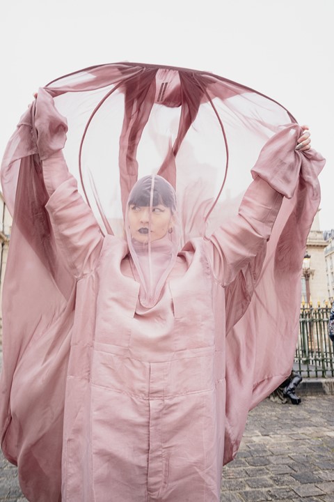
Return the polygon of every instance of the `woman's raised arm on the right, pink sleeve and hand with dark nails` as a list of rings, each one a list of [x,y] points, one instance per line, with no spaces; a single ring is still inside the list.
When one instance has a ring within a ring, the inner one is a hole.
[[[299,138],[297,140],[297,138]],[[226,287],[257,257],[262,259],[283,197],[291,198],[299,179],[301,153],[310,148],[309,133],[287,126],[267,142],[252,170],[239,213],[207,241],[207,256],[216,280]],[[248,276],[249,280],[249,276]],[[255,277],[254,277],[255,280]]]

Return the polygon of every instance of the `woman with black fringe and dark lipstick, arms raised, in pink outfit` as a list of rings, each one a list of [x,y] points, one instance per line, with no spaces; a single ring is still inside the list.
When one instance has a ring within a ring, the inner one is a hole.
[[[284,368],[265,367],[262,380],[255,372],[253,390],[246,389],[252,349],[239,368],[245,352],[233,349],[237,337],[226,342],[225,335],[260,284],[267,241],[284,197],[300,188],[301,163],[310,178],[308,158],[295,150],[297,144],[299,151],[310,149],[309,134],[292,124],[274,135],[253,168],[239,213],[180,250],[175,192],[160,176],[139,180],[129,192],[126,239],[102,234],[54,147],[65,129],[47,99],[40,91],[35,116],[52,229],[44,247],[61,252],[61,261],[54,255],[45,269],[67,291],[67,303],[47,326],[35,321],[23,362],[15,366],[3,450],[17,459],[32,501],[218,501],[223,455],[225,462],[235,455],[244,415],[286,377]],[[321,158],[312,160],[322,165]],[[37,243],[34,253],[32,259],[42,253]],[[74,282],[66,282],[64,267]],[[294,338],[286,343],[291,352]],[[31,366],[28,402],[22,381],[33,352],[42,364]],[[238,381],[247,402],[231,392]]]

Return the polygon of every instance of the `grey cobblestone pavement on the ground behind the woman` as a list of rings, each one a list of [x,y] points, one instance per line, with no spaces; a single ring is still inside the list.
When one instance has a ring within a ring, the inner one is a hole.
[[[237,457],[223,469],[221,502],[334,502],[334,396],[302,399],[264,400],[249,413]],[[26,501],[2,458],[0,501]]]

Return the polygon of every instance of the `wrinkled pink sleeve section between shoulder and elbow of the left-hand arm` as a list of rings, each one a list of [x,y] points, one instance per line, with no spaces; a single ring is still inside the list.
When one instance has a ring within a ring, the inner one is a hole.
[[[75,277],[95,268],[103,236],[95,217],[77,190],[77,181],[67,179],[54,191],[46,206],[56,243]]]

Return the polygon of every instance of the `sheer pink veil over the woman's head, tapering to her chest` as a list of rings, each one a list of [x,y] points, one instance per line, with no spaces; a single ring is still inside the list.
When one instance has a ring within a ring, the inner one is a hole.
[[[180,248],[176,195],[161,176],[137,181],[127,202],[125,229],[143,307],[159,301]]]

